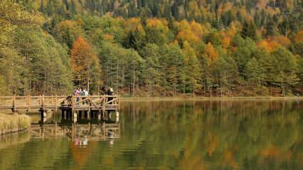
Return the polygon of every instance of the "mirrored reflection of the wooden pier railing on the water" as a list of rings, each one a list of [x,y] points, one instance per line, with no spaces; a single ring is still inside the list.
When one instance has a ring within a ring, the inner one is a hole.
[[[70,140],[117,140],[120,137],[119,123],[87,123],[70,125],[65,123],[52,123],[46,125],[31,125],[29,129],[32,138],[69,137]]]

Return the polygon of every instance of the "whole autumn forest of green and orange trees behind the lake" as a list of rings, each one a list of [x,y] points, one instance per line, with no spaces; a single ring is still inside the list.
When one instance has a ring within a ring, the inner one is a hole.
[[[0,96],[303,95],[300,0],[2,0]]]

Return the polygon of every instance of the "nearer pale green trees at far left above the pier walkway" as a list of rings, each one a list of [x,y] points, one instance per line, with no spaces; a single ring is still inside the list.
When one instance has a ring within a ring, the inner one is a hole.
[[[38,27],[41,18],[20,4],[1,3],[1,26],[12,29],[0,31],[0,71],[6,86],[0,93],[63,94],[71,89],[67,51]]]

